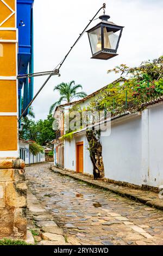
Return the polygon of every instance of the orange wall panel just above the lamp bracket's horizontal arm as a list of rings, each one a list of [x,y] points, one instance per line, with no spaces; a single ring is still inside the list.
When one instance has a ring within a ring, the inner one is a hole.
[[[0,76],[16,76],[16,47],[12,42],[0,43],[3,56],[0,57]]]

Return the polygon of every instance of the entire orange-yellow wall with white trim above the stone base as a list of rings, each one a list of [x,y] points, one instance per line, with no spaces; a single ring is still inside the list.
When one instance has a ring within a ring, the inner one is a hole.
[[[8,28],[16,29],[16,14],[14,13],[16,0],[4,0],[4,2],[12,10],[0,0],[0,40],[16,40],[16,31],[8,30]],[[9,15],[11,17],[8,19]],[[7,29],[1,30],[4,27]],[[17,155],[16,53],[17,42],[0,42],[0,77],[3,77],[2,80],[0,79],[0,113],[4,113],[4,115],[0,115],[0,156],[2,151],[2,155],[5,157],[12,156],[11,154]],[[14,76],[15,80],[7,78],[10,76]],[[14,152],[11,153],[11,151]]]

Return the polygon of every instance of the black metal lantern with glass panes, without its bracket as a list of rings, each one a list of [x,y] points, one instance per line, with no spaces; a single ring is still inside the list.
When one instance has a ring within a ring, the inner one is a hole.
[[[87,31],[92,51],[92,59],[110,59],[117,56],[117,49],[123,28],[109,22],[109,15],[99,17],[102,20]]]

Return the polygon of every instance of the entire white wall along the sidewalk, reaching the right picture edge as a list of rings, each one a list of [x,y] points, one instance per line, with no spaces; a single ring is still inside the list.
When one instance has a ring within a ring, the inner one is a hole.
[[[135,185],[163,185],[163,103],[111,123],[101,136],[105,178]],[[93,174],[85,133],[65,142],[65,168],[76,171],[76,143],[84,143],[84,173]]]

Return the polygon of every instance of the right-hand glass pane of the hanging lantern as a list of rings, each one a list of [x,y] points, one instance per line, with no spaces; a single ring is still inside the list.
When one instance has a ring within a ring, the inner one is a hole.
[[[104,27],[104,48],[116,50],[120,31],[110,31],[110,29]]]

